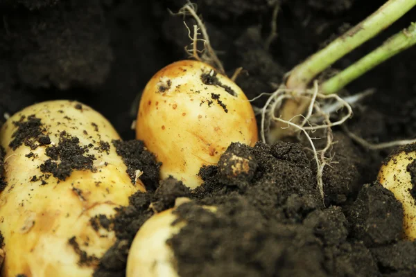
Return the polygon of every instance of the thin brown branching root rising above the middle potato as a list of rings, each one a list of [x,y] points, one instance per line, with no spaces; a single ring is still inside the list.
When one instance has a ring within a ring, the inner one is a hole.
[[[215,66],[216,69],[218,69],[218,71],[220,71],[221,73],[225,73],[222,62],[220,61],[220,59],[218,59],[218,56],[216,55],[214,49],[211,46],[211,43],[209,42],[207,28],[205,28],[205,25],[196,13],[197,8],[198,6],[196,5],[196,3],[191,3],[190,1],[188,1],[188,3],[186,3],[182,8],[180,8],[179,12],[171,12],[171,15],[182,15],[184,17],[190,15],[196,21],[196,25],[193,25],[193,35],[191,35],[191,29],[184,22],[188,30],[189,39],[191,39],[192,41],[192,43],[189,46],[185,47],[185,51],[189,53],[190,57],[194,57],[196,60],[200,60],[202,62],[206,62],[207,64],[211,64],[212,66]],[[201,33],[198,33],[198,31],[200,31]],[[202,35],[202,38],[198,38],[198,35]],[[202,42],[202,50],[198,50],[198,42]]]

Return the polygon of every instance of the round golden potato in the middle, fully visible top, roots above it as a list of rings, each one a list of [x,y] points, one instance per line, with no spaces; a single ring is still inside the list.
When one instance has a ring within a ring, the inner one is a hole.
[[[136,137],[169,175],[189,188],[202,165],[216,165],[230,143],[258,141],[254,111],[241,89],[208,64],[174,62],[153,75],[141,95]]]

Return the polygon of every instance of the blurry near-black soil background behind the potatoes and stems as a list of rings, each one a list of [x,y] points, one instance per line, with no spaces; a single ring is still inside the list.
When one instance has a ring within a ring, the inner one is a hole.
[[[237,83],[249,98],[270,92],[270,83],[357,24],[384,0],[281,0],[277,38],[270,51],[275,0],[198,0],[198,14],[229,75],[243,66]],[[182,17],[184,1],[0,0],[0,115],[34,102],[73,99],[111,120],[124,139],[134,133],[135,98],[163,66],[187,58],[189,44]],[[410,11],[391,28],[338,62],[341,69],[368,53],[416,17]],[[416,125],[416,48],[401,53],[347,87],[367,99],[371,116],[362,135],[377,140],[413,136]],[[254,102],[262,105],[265,98]],[[134,110],[133,110],[134,114]]]

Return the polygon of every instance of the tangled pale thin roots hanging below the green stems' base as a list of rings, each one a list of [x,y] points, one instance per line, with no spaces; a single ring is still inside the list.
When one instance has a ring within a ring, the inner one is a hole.
[[[260,96],[264,94],[270,93],[262,93]],[[276,111],[282,107],[284,100],[293,98],[304,99],[309,102],[309,105],[306,109],[306,115],[303,116],[302,114],[299,114],[290,120],[284,120],[275,116]],[[251,101],[255,99],[257,98],[254,98]],[[338,120],[332,122],[331,113],[329,113],[328,110],[336,112],[343,108],[345,108],[347,112],[340,115],[339,118],[337,116]],[[270,136],[272,136],[272,134],[270,134],[270,125],[272,123],[283,123],[284,125],[287,125],[287,127],[282,127],[283,129],[294,127],[297,129],[296,135],[298,137],[300,134],[304,134],[306,140],[311,145],[311,151],[313,152],[313,159],[315,160],[317,168],[317,186],[323,201],[324,184],[322,181],[322,175],[324,172],[324,167],[328,166],[333,158],[329,153],[331,146],[333,145],[331,128],[336,125],[343,125],[343,123],[345,123],[345,121],[352,116],[352,107],[347,101],[335,94],[324,95],[319,93],[318,81],[315,81],[313,89],[304,91],[293,91],[293,89],[286,89],[286,87],[282,85],[279,87],[279,89],[277,89],[277,91],[271,93],[268,100],[266,101],[266,105],[264,105],[261,110],[257,109],[257,111],[259,114],[261,114],[260,134],[263,143],[268,143],[268,141],[270,141]],[[300,123],[293,123],[293,119],[297,117],[302,117],[303,120]],[[322,150],[317,150],[315,148],[315,143],[313,143],[313,140],[322,139],[322,137],[315,138],[311,136],[319,129],[324,131],[324,138],[327,139],[327,143]]]

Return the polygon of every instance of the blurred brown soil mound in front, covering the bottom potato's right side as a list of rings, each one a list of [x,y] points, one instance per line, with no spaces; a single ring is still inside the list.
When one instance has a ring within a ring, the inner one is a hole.
[[[192,202],[174,213],[187,222],[167,241],[179,276],[329,276],[314,228],[266,220],[244,197],[229,197],[216,213]]]

